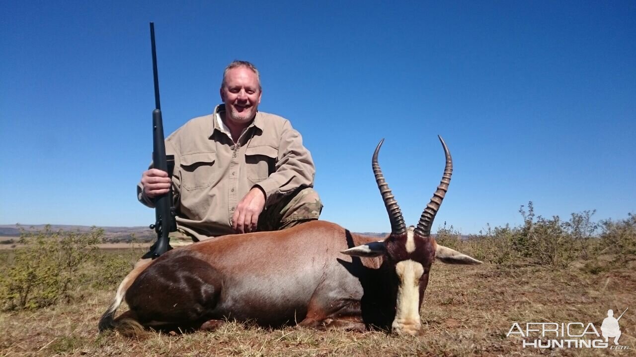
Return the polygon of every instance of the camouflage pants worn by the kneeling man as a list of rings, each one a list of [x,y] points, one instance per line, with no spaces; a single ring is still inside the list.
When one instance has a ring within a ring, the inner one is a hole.
[[[257,231],[280,231],[297,226],[303,222],[316,220],[322,212],[322,202],[318,192],[304,187],[288,194],[283,199],[267,206],[258,217]],[[193,243],[185,232],[170,232],[170,245],[173,247]]]

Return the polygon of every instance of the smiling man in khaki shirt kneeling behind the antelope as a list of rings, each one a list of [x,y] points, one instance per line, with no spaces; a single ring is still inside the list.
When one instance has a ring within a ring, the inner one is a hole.
[[[166,153],[175,157],[172,180],[150,168],[137,185],[139,201],[152,207],[172,185],[177,230],[193,241],[318,219],[312,157],[287,119],[258,111],[261,95],[254,65],[228,65],[223,104],[165,140]]]

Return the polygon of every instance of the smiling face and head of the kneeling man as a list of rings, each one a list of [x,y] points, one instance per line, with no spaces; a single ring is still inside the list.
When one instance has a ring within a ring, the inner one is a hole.
[[[256,73],[246,67],[230,69],[221,87],[226,120],[236,124],[252,121],[261,102],[261,94]]]

